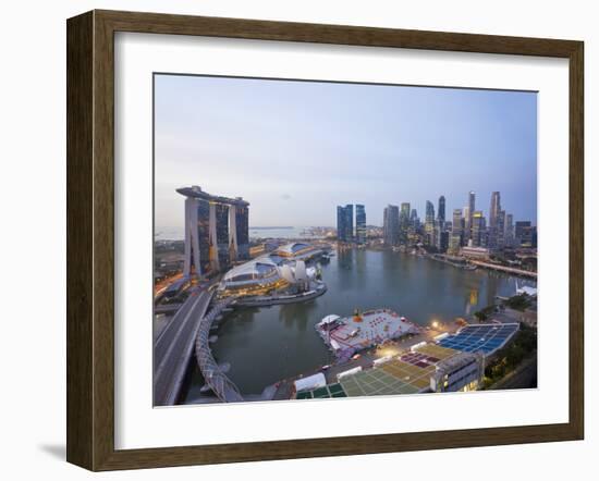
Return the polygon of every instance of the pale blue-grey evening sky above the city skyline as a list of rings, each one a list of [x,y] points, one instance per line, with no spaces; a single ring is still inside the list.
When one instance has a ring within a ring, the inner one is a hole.
[[[250,202],[249,223],[334,225],[337,206],[447,199],[447,218],[491,192],[537,218],[537,95],[181,75],[155,77],[157,227],[183,226],[175,188]]]

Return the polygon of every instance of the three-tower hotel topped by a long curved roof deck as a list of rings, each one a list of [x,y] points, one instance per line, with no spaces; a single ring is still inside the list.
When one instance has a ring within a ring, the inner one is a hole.
[[[178,188],[185,197],[185,263],[183,274],[220,271],[249,258],[249,203],[210,195],[197,185]]]

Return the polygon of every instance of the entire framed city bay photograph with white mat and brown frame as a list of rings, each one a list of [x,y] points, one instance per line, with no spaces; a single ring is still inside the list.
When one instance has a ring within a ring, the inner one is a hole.
[[[583,42],[68,21],[68,460],[584,436]]]

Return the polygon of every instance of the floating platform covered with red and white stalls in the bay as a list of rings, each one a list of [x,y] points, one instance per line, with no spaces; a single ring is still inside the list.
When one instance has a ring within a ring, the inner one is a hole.
[[[340,359],[349,359],[354,353],[386,341],[421,332],[420,326],[390,309],[356,312],[346,318],[327,316],[315,329]]]

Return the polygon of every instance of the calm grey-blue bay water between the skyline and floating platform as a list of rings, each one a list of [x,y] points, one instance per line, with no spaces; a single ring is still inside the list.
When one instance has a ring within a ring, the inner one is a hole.
[[[314,330],[325,316],[388,307],[425,325],[432,319],[472,316],[494,296],[515,293],[515,282],[506,275],[365,249],[339,249],[322,264],[322,279],[328,292],[314,300],[242,308],[223,319],[213,354],[219,362],[231,363],[229,375],[242,392],[260,393],[266,385],[329,363],[330,354]]]

